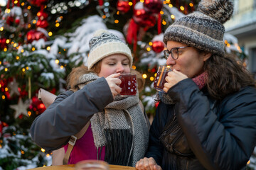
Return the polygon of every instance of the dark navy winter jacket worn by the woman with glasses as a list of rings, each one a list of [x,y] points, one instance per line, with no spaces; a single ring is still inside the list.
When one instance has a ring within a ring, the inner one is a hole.
[[[215,101],[184,79],[168,94],[175,104],[159,103],[146,157],[163,170],[245,169],[256,145],[253,87]]]

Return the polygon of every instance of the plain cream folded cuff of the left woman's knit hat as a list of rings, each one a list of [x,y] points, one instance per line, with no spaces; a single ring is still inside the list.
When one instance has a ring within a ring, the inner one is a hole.
[[[132,67],[132,53],[129,47],[123,42],[107,42],[102,44],[90,52],[88,57],[87,65],[88,69],[91,69],[94,64],[102,60],[104,57],[113,54],[126,55],[129,59],[130,67]]]

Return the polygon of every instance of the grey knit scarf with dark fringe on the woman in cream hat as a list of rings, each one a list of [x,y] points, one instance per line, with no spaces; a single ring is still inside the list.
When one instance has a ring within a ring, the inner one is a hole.
[[[81,89],[86,84],[95,81],[98,78],[97,74],[84,74],[79,78],[78,86]],[[126,98],[116,96],[114,101],[105,107],[104,112],[95,113],[90,121],[93,139],[97,148],[106,146],[107,143],[109,143],[107,138],[110,134],[106,134],[106,132],[117,132],[117,135],[119,135],[119,132],[123,132],[122,130],[127,130],[132,134],[132,145],[128,149],[128,159],[130,159],[130,163],[129,161],[128,163],[135,166],[139,159],[144,157],[149,141],[149,130],[147,128],[146,119],[144,118],[144,113],[142,113],[142,109],[139,106],[138,94],[137,96],[130,96]],[[125,137],[126,135],[121,138]],[[124,142],[125,141],[126,139],[124,139]],[[121,144],[117,143],[117,145]],[[129,145],[124,147],[129,147]],[[117,152],[124,154],[122,153],[124,148],[119,149],[120,150]],[[108,157],[107,152],[105,157]],[[109,163],[111,164],[111,162]]]

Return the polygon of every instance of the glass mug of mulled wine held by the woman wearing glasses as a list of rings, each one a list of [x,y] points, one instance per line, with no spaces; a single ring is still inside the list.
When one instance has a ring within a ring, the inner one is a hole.
[[[166,76],[168,72],[171,72],[171,67],[168,66],[159,66],[159,69],[156,73],[156,78],[154,80],[154,89],[157,91],[164,92],[164,84],[166,83]]]

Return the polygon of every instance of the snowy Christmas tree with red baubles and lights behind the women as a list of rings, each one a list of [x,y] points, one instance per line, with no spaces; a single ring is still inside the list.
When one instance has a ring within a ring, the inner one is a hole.
[[[38,90],[65,91],[73,67],[86,64],[95,29],[108,29],[127,41],[133,69],[146,79],[140,97],[149,117],[157,103],[155,72],[165,64],[163,32],[191,13],[198,0],[0,1],[0,169],[30,169],[51,164],[50,154],[33,143],[29,128],[45,111]],[[232,35],[228,52],[245,55]],[[12,162],[12,164],[9,164]],[[248,167],[253,169],[254,157]]]

